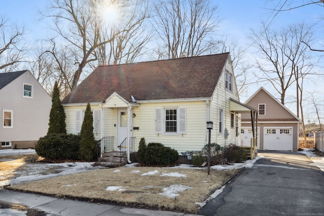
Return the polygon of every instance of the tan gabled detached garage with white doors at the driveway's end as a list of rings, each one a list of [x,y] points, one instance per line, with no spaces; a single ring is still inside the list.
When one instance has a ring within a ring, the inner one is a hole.
[[[260,88],[245,103],[259,110],[258,149],[298,151],[301,120],[264,88]],[[249,145],[251,123],[247,114],[241,115],[241,142]]]

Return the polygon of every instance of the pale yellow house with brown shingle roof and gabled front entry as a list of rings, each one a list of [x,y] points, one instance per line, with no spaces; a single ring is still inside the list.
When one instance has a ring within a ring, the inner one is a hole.
[[[79,133],[87,103],[102,152],[127,147],[140,138],[174,148],[179,155],[211,142],[238,144],[240,112],[229,53],[121,65],[98,66],[62,104],[67,133]],[[253,110],[255,111],[255,110]]]

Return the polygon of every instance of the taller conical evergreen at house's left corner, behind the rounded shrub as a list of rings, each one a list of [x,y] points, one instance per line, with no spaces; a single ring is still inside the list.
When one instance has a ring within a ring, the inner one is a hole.
[[[57,81],[54,84],[49,129],[47,131],[47,135],[50,134],[66,134],[65,112],[61,104]]]

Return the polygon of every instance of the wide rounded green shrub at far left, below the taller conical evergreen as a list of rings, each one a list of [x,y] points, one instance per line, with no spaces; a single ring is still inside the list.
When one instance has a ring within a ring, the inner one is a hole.
[[[36,146],[36,153],[46,159],[78,159],[80,136],[73,134],[49,134],[41,137]]]

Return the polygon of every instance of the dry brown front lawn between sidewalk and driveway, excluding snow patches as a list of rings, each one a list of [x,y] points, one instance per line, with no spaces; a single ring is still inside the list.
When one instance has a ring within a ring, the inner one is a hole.
[[[120,171],[116,172],[117,169]],[[133,170],[140,170],[140,172],[131,173]],[[154,176],[141,176],[154,170],[158,170],[159,173]],[[195,203],[203,202],[238,171],[239,169],[211,170],[211,174],[208,176],[206,169],[119,167],[90,170],[78,174],[27,182],[8,188],[59,198],[196,213],[199,206]],[[186,174],[187,177],[160,176],[163,173],[171,172]],[[158,194],[162,192],[163,188],[175,184],[192,187],[192,189],[179,192],[179,196],[174,199]],[[122,186],[126,190],[107,191],[108,186]]]

